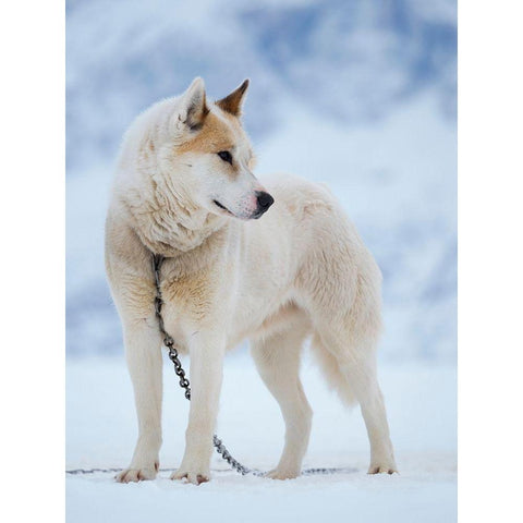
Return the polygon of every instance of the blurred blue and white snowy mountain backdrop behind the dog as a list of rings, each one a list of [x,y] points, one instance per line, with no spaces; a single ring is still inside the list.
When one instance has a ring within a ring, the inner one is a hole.
[[[122,352],[104,273],[121,136],[204,77],[252,81],[257,174],[327,182],[384,272],[387,361],[455,358],[457,21],[453,0],[69,1],[68,354]]]

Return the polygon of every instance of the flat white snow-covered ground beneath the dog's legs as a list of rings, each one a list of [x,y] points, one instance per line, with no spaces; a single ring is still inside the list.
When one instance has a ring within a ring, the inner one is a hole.
[[[66,467],[122,467],[135,442],[131,382],[121,357],[71,358],[66,385]],[[357,409],[346,411],[308,357],[305,392],[314,410],[305,467],[343,467],[327,476],[276,482],[227,471],[216,454],[212,481],[195,487],[169,479],[120,485],[112,474],[66,476],[68,522],[313,522],[457,519],[455,369],[381,365],[380,381],[400,475],[368,476],[368,443]],[[161,469],[181,460],[187,402],[166,358]],[[245,464],[268,470],[279,458],[283,423],[248,356],[226,361],[218,435]]]

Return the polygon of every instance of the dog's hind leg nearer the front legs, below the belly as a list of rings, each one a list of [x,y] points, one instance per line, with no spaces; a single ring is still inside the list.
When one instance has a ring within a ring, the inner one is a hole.
[[[277,467],[267,476],[300,475],[307,450],[313,412],[300,381],[301,349],[307,331],[295,328],[252,341],[252,355],[262,379],[278,401],[285,422],[285,445]]]

